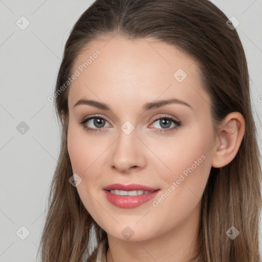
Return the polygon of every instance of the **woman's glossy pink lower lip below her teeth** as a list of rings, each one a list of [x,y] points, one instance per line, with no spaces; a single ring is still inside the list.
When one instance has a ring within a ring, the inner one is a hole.
[[[120,208],[134,208],[155,198],[159,190],[160,189],[152,193],[140,194],[140,195],[117,195],[107,190],[104,191],[105,191],[106,199],[113,205]]]

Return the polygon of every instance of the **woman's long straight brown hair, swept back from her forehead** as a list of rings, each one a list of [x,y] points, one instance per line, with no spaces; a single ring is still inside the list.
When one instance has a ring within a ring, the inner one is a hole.
[[[237,155],[228,165],[211,168],[202,198],[199,244],[208,262],[260,261],[257,130],[244,49],[227,20],[208,0],[97,0],[79,17],[65,44],[55,88],[61,147],[40,242],[41,261],[81,261],[91,245],[92,228],[97,243],[105,239],[108,248],[106,232],[92,219],[69,183],[73,174],[67,148],[70,85],[62,92],[61,86],[73,74],[77,56],[91,40],[116,34],[128,39],[152,37],[191,55],[199,64],[204,89],[212,101],[214,127],[231,112],[244,116],[246,130]],[[239,231],[233,241],[226,234],[231,226]]]

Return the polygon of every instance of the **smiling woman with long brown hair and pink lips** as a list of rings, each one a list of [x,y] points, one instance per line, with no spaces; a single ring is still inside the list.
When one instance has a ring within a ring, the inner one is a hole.
[[[260,261],[249,92],[241,41],[209,1],[94,2],[57,77],[42,261]]]

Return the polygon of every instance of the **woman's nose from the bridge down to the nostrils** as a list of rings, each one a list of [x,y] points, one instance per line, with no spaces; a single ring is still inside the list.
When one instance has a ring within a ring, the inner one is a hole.
[[[120,127],[118,139],[113,147],[111,166],[127,171],[130,167],[144,165],[143,144],[137,135],[137,128],[129,121]]]

